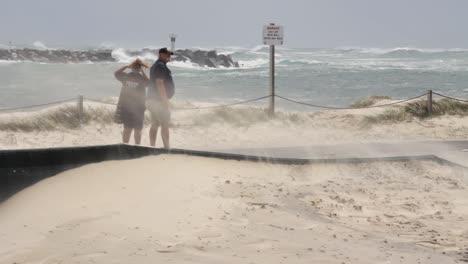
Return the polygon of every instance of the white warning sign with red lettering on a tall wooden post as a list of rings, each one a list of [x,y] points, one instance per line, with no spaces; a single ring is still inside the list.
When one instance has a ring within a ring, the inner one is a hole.
[[[283,26],[270,23],[263,26],[263,44],[270,46],[270,116],[275,114],[275,45],[283,45]]]

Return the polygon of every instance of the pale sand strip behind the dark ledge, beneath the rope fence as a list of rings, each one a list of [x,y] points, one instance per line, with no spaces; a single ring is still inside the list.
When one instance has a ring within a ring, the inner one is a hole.
[[[382,101],[379,103],[387,103]],[[190,105],[180,105],[187,107]],[[81,127],[67,128],[52,115],[43,121],[53,129],[42,128],[0,129],[0,149],[47,148],[59,146],[102,145],[121,142],[122,126],[112,123],[114,106],[86,104],[88,112],[97,121]],[[466,140],[468,116],[444,115],[429,119],[413,118],[399,122],[382,122],[372,125],[365,118],[378,116],[397,107],[320,111],[278,111],[275,118],[267,117],[263,109],[255,107],[230,107],[174,111],[172,113],[171,147],[203,150],[242,147],[290,147],[316,144],[356,142],[394,142],[417,140]],[[38,115],[55,108],[30,113],[0,114],[2,124],[16,122],[25,125],[37,123]],[[109,120],[110,119],[110,120]],[[8,127],[8,126],[5,126]],[[149,124],[143,130],[142,144],[148,146]],[[133,139],[131,142],[133,143]],[[157,147],[162,147],[158,136]]]

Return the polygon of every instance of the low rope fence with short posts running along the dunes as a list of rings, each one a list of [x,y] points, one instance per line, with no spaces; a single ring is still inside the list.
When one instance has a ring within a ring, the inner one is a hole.
[[[460,98],[456,98],[456,97],[452,97],[452,96],[447,96],[447,95],[443,95],[443,94],[440,94],[440,93],[437,93],[437,92],[433,92],[432,90],[428,90],[427,93],[424,93],[424,94],[421,94],[421,95],[418,95],[418,96],[414,96],[414,97],[410,97],[410,98],[407,98],[407,99],[402,99],[402,100],[399,100],[399,101],[386,103],[386,104],[370,105],[370,106],[362,106],[362,107],[335,107],[335,106],[317,105],[317,104],[311,104],[311,103],[306,103],[306,102],[303,102],[303,101],[294,100],[294,99],[291,99],[291,98],[287,98],[287,97],[275,94],[275,95],[266,95],[266,96],[262,96],[262,97],[258,97],[258,98],[254,98],[254,99],[250,99],[250,100],[245,100],[245,101],[241,101],[241,102],[230,103],[230,104],[213,105],[213,106],[205,106],[205,107],[185,107],[185,108],[182,107],[182,108],[175,108],[174,110],[176,110],[176,111],[177,110],[203,110],[203,109],[213,109],[213,108],[224,108],[224,107],[230,107],[230,106],[242,105],[242,104],[247,104],[247,103],[251,103],[251,102],[260,101],[260,100],[263,100],[263,99],[266,99],[266,98],[271,98],[272,96],[280,98],[280,99],[282,99],[284,101],[288,101],[288,102],[299,104],[299,105],[309,106],[309,107],[316,107],[316,108],[329,109],[329,110],[354,110],[354,109],[369,109],[369,108],[387,107],[387,106],[402,104],[402,103],[405,103],[405,102],[409,102],[409,101],[412,101],[412,100],[419,99],[419,98],[427,96],[427,109],[428,109],[429,114],[431,114],[431,112],[432,112],[432,102],[433,102],[432,95],[433,94],[437,95],[437,96],[440,96],[440,97],[443,97],[443,98],[446,98],[446,99],[455,100],[455,101],[459,101],[459,102],[463,102],[463,103],[468,103],[468,100],[464,100],[464,99],[460,99]],[[44,106],[57,105],[57,104],[73,102],[73,101],[77,102],[78,109],[80,110],[80,112],[82,112],[83,111],[83,104],[84,104],[85,100],[90,101],[90,102],[100,103],[100,104],[107,104],[107,105],[113,105],[113,106],[117,105],[116,103],[100,101],[100,100],[96,100],[96,99],[92,99],[92,98],[83,97],[82,95],[80,95],[80,96],[78,96],[78,100],[75,98],[75,99],[55,101],[55,102],[49,102],[49,103],[44,103],[44,104],[38,104],[38,105],[6,108],[6,109],[0,109],[0,112],[10,112],[10,111],[14,111],[14,110],[22,110],[22,109],[29,109],[29,108],[35,108],[35,107],[44,107]]]

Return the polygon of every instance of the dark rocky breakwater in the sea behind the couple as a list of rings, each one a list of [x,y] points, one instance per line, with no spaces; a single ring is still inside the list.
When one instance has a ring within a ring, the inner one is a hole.
[[[129,57],[157,58],[158,51],[143,49],[124,51]],[[0,60],[33,61],[45,63],[82,63],[82,62],[116,62],[119,58],[112,50],[39,50],[39,49],[0,49]],[[176,50],[173,61],[191,62],[200,67],[239,67],[231,56],[217,54],[215,50]]]

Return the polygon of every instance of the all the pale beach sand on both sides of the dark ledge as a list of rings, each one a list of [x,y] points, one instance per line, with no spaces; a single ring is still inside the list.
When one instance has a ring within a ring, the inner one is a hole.
[[[0,115],[16,128],[0,131],[0,147],[120,142],[112,106],[88,103],[100,116],[78,127],[61,123],[62,107]],[[222,150],[468,138],[461,115],[369,122],[395,109],[279,110],[273,119],[258,107],[174,111],[171,141]],[[0,263],[468,262],[467,183],[466,170],[434,161],[287,166],[160,155],[91,164],[0,204]]]

